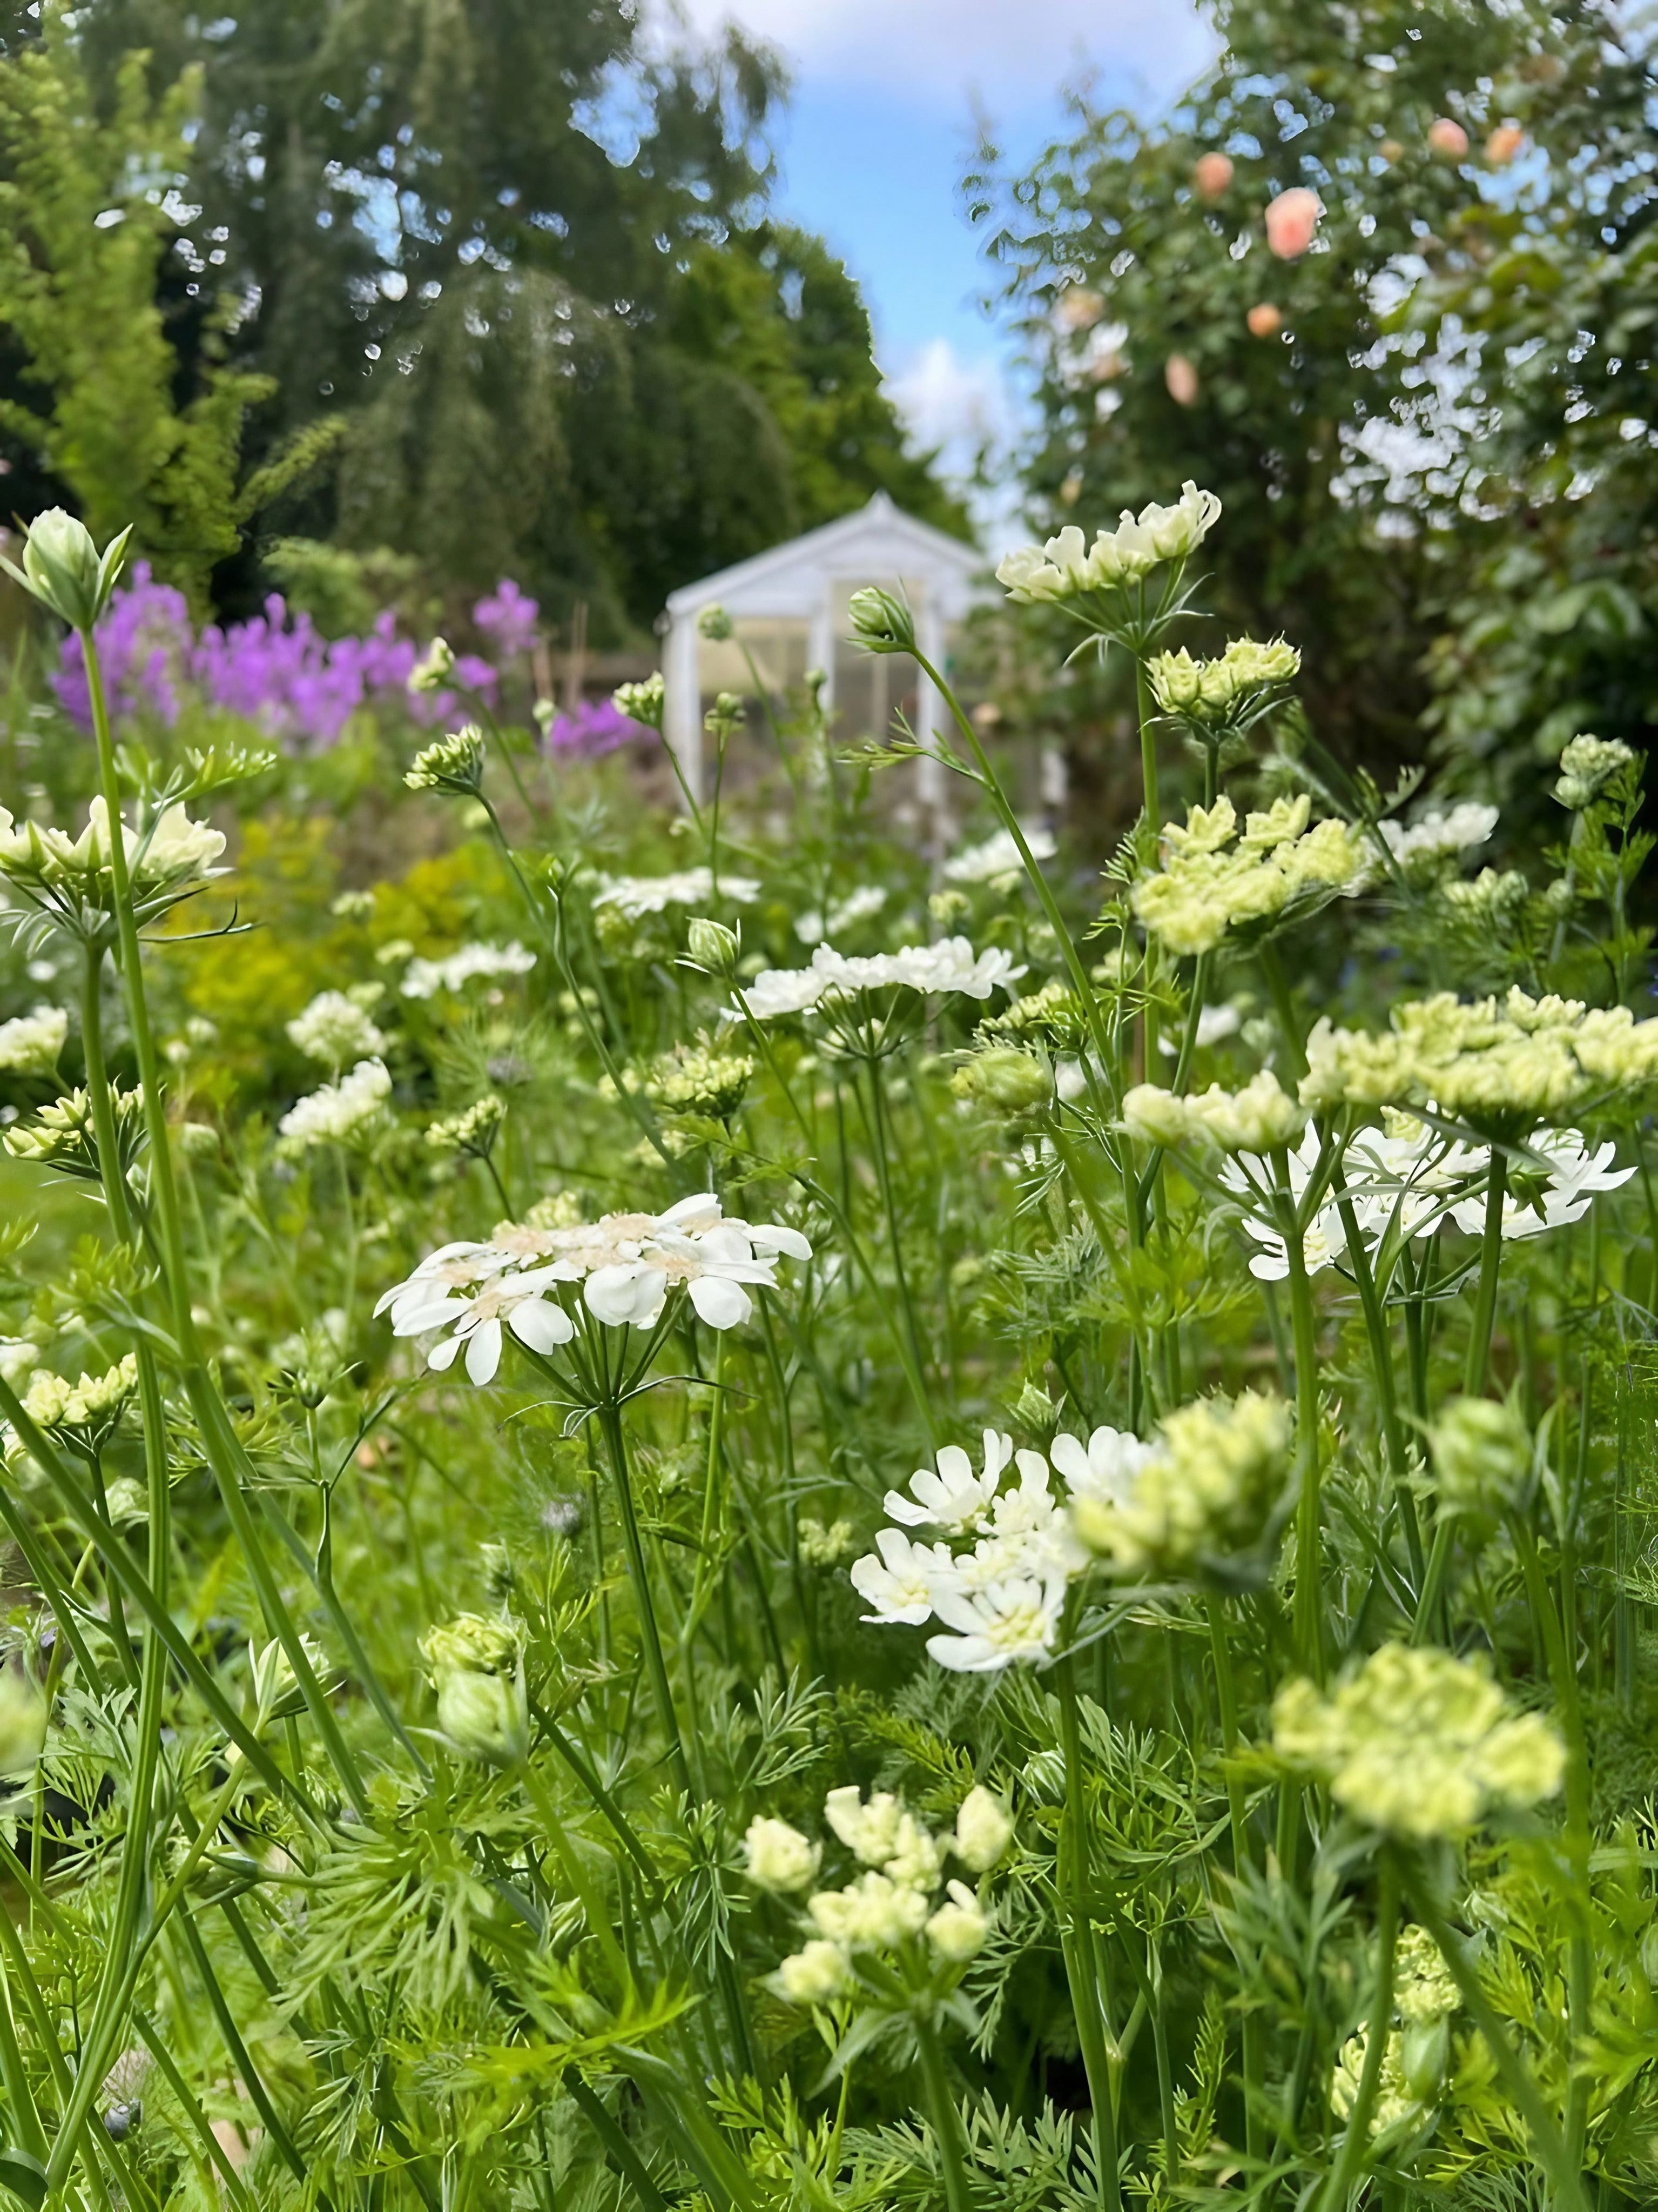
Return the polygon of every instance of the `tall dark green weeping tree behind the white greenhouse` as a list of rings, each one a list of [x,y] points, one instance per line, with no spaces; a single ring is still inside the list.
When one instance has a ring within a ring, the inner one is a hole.
[[[595,637],[880,484],[962,526],[844,268],[767,219],[783,77],[738,33],[659,53],[623,0],[77,20],[111,86],[137,46],[199,71],[179,254],[223,254],[267,436],[347,418],[276,526],[420,551],[458,597],[511,571]]]

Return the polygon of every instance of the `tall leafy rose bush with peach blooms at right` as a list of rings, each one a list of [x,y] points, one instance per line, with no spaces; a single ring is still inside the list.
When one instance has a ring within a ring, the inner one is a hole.
[[[1081,104],[1028,175],[970,179],[1039,369],[1035,518],[1216,489],[1227,622],[1302,646],[1353,757],[1426,726],[1508,787],[1574,728],[1640,741],[1647,60],[1594,0],[1214,13],[1225,51],[1165,119]],[[1295,188],[1322,215],[1280,257]]]

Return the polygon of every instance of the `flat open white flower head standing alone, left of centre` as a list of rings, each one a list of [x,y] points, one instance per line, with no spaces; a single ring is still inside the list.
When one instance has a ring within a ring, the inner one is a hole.
[[[778,1259],[811,1259],[800,1230],[738,1221],[701,1194],[663,1214],[606,1214],[564,1228],[508,1221],[489,1243],[440,1245],[374,1312],[391,1316],[393,1336],[442,1329],[427,1365],[442,1374],[464,1352],[469,1378],[493,1383],[502,1325],[531,1352],[570,1343],[575,1321],[559,1303],[562,1285],[579,1283],[588,1314],[612,1329],[654,1327],[668,1292],[681,1285],[710,1329],[734,1329],[754,1312],[745,1285],[776,1290]]]

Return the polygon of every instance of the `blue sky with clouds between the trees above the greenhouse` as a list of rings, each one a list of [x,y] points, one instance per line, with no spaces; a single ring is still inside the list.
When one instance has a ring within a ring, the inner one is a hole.
[[[1006,341],[957,179],[975,111],[1019,161],[1061,126],[1061,88],[1156,106],[1209,53],[1192,0],[683,0],[699,29],[734,15],[794,69],[783,206],[864,285],[893,396],[928,445],[1006,431]],[[957,442],[957,451],[959,451]]]

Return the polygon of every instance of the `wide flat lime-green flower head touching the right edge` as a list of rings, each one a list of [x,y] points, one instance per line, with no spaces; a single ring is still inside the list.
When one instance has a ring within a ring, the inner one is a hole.
[[[1658,1018],[1576,998],[1463,1002],[1450,991],[1393,1009],[1382,1035],[1320,1022],[1307,1040],[1302,1104],[1428,1106],[1477,1128],[1530,1128],[1658,1075]]]

